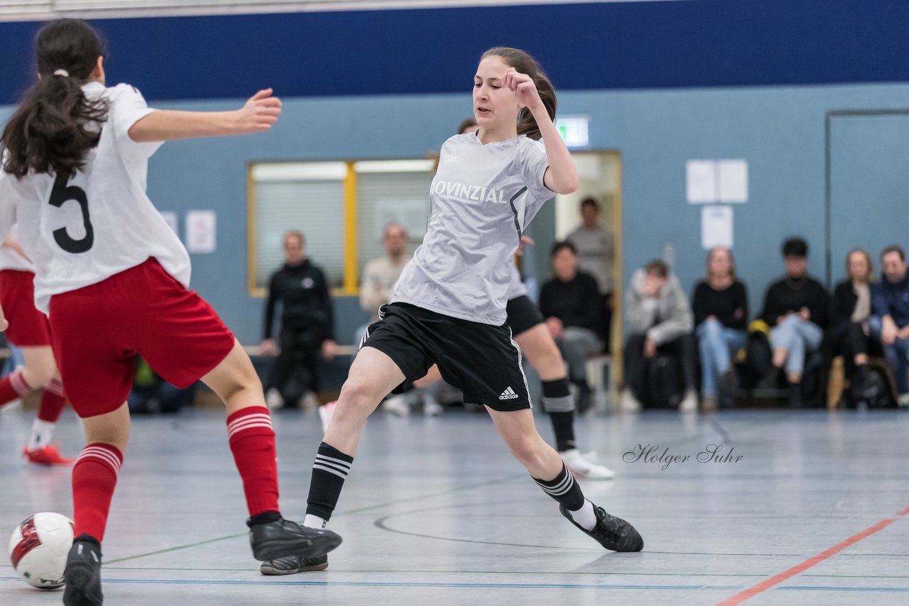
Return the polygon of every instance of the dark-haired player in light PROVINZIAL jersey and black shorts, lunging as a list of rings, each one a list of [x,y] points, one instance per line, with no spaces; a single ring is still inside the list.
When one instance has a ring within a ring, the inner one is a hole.
[[[386,393],[436,363],[464,402],[486,406],[514,457],[568,520],[607,549],[643,548],[631,524],[584,499],[558,452],[536,432],[521,353],[505,324],[506,262],[524,226],[553,192],[577,188],[554,114],[554,89],[533,57],[513,48],[484,53],[474,76],[480,128],[442,146],[425,238],[351,365],[315,457],[305,525],[324,527],[334,512],[366,417]],[[534,141],[541,136],[545,144]],[[268,561],[262,571],[324,563]]]

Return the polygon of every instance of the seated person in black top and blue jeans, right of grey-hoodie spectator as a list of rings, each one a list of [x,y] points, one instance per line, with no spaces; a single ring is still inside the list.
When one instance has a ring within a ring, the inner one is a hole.
[[[702,409],[716,409],[717,388],[723,407],[732,407],[736,384],[730,353],[747,343],[748,295],[744,283],[735,279],[728,248],[720,246],[707,254],[707,275],[694,288],[692,309],[701,353]]]

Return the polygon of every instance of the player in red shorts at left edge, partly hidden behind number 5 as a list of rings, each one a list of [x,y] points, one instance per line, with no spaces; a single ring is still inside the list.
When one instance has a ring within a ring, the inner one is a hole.
[[[25,365],[0,381],[0,408],[41,389],[38,415],[23,454],[30,462],[69,465],[73,460],[51,443],[66,396],[51,349],[47,316],[35,309],[35,266],[22,252],[17,232],[14,228],[0,246],[0,308],[10,322],[6,342],[22,351]]]

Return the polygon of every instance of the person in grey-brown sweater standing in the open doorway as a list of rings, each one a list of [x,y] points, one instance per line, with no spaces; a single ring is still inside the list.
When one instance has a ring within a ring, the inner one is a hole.
[[[613,271],[615,263],[615,238],[600,225],[600,204],[594,198],[581,201],[583,223],[565,238],[574,244],[577,251],[577,266],[584,273],[596,279],[596,285],[603,295],[604,337],[608,340],[612,324],[613,293],[615,290]]]

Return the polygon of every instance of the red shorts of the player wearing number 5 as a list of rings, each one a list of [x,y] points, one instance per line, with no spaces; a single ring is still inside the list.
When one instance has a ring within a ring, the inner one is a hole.
[[[123,405],[136,353],[166,382],[184,388],[211,372],[235,343],[211,305],[155,259],[55,294],[50,324],[66,395],[80,417]]]

